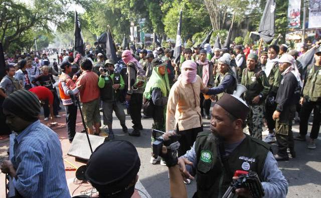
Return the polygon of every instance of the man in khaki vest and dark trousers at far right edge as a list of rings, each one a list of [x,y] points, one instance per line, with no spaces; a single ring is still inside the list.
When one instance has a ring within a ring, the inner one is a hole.
[[[314,65],[306,69],[302,96],[300,99],[301,112],[300,112],[300,134],[294,137],[296,140],[305,141],[307,134],[307,123],[309,115],[313,110],[313,123],[310,132],[310,139],[307,145],[310,149],[316,148],[316,138],[318,137],[321,121],[321,46],[319,46],[314,53]]]

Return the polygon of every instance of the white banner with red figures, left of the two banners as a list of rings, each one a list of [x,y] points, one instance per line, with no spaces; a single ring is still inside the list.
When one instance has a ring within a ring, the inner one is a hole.
[[[295,28],[300,26],[301,0],[289,0],[287,8],[288,27]]]

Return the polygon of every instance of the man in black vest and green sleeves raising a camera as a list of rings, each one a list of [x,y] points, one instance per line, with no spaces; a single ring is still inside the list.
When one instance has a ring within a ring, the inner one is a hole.
[[[100,67],[100,76],[98,80],[98,86],[100,88],[100,97],[103,101],[102,108],[104,112],[103,121],[108,126],[108,139],[114,138],[112,131],[112,111],[114,110],[117,118],[120,121],[120,125],[124,132],[127,132],[127,126],[125,123],[125,112],[122,104],[119,101],[120,90],[125,87],[124,80],[120,73],[114,72],[114,61],[107,59],[105,62],[105,68]]]

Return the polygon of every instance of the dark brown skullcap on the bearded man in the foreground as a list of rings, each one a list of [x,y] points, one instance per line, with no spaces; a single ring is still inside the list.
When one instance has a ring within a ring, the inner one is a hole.
[[[235,116],[237,119],[245,120],[249,112],[249,107],[245,101],[238,96],[225,93],[216,104],[220,105],[227,112]]]

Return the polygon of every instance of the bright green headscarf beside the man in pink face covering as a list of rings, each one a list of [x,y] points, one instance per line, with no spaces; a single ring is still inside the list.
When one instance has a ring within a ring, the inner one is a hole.
[[[165,66],[165,75],[159,74],[158,68],[158,66],[154,66],[152,68],[152,73],[150,75],[150,78],[148,79],[145,91],[143,93],[143,96],[146,99],[151,98],[151,91],[156,87],[161,89],[163,96],[168,96],[168,93],[171,90],[169,76],[167,73],[167,66]]]

